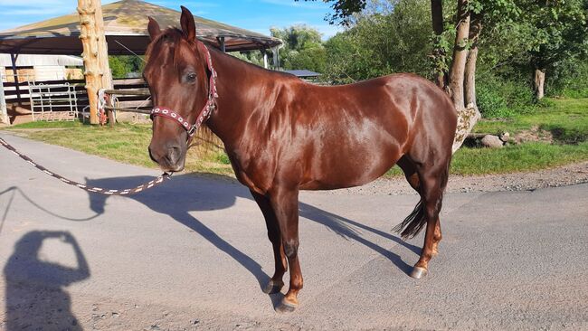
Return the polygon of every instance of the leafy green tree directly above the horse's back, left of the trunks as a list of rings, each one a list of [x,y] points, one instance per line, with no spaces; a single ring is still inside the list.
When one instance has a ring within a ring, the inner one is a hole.
[[[428,1],[402,1],[384,10],[383,4],[368,4],[352,26],[325,43],[323,78],[338,84],[406,71],[432,78]]]

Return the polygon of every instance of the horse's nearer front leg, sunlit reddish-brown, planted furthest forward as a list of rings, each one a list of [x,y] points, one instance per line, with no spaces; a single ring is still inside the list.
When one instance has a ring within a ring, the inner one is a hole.
[[[293,311],[298,307],[298,294],[302,288],[299,250],[299,190],[275,187],[270,190],[270,203],[278,219],[281,241],[289,264],[289,289],[282,299],[280,311]]]

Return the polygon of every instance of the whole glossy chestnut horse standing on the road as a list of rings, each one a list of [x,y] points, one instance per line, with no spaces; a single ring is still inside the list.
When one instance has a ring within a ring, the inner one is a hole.
[[[411,273],[424,276],[441,241],[439,213],[457,125],[449,97],[405,73],[344,86],[309,84],[205,46],[185,7],[180,22],[181,30],[161,31],[149,19],[144,77],[156,107],[149,154],[164,171],[181,171],[194,123],[204,121],[223,141],[273,246],[276,269],[264,291],[279,292],[289,268],[279,309],[297,307],[302,288],[299,190],[366,184],[394,164],[421,196],[394,230],[413,237],[426,224]]]

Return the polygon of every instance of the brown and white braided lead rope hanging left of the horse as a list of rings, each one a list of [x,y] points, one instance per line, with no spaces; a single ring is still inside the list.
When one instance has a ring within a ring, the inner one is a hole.
[[[159,177],[157,177],[154,180],[151,180],[145,184],[140,184],[135,188],[127,188],[127,189],[123,189],[123,190],[107,190],[105,188],[100,188],[100,187],[94,187],[94,186],[88,186],[86,184],[81,184],[78,182],[74,182],[72,180],[69,180],[61,175],[57,175],[52,173],[51,171],[47,170],[46,167],[44,167],[43,165],[37,165],[36,163],[33,162],[33,160],[28,157],[25,156],[23,154],[21,154],[19,151],[17,151],[14,147],[10,146],[10,144],[8,144],[5,139],[0,137],[0,144],[2,144],[2,146],[6,147],[6,149],[10,150],[11,152],[13,152],[16,156],[19,156],[20,158],[24,159],[24,161],[28,162],[29,164],[33,165],[35,168],[43,171],[43,173],[47,174],[47,175],[51,175],[54,178],[57,178],[59,180],[61,180],[63,183],[65,184],[70,184],[76,187],[81,188],[84,191],[88,191],[88,192],[92,192],[92,193],[99,193],[99,194],[106,194],[106,195],[131,195],[131,194],[138,194],[139,192],[145,191],[153,186],[156,186],[158,184],[162,184],[164,181],[166,181],[167,179],[169,179],[169,177],[171,176],[170,174],[164,173],[163,175],[160,175]]]

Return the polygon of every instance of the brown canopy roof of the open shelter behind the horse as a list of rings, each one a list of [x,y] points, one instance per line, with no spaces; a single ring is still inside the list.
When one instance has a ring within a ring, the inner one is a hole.
[[[73,6],[73,5],[72,5]],[[147,16],[159,25],[179,26],[180,12],[139,0],[122,0],[102,6],[109,54],[143,54],[147,50]],[[197,37],[226,51],[246,51],[280,45],[280,39],[194,16]],[[80,18],[77,13],[55,17],[0,32],[0,53],[81,54]]]

